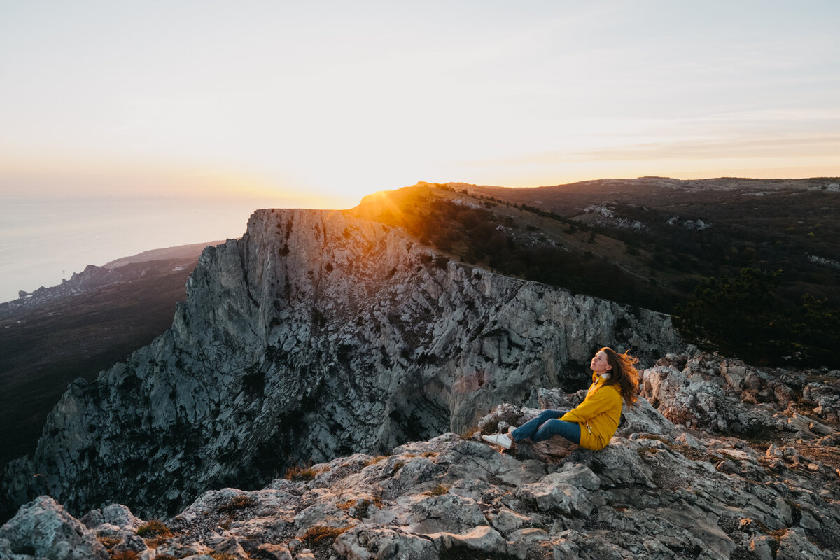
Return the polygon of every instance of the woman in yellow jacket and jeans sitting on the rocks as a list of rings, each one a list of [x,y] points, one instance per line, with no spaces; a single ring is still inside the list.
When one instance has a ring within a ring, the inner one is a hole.
[[[592,359],[592,385],[572,411],[542,411],[533,420],[507,433],[481,436],[487,442],[510,449],[513,442],[530,439],[544,442],[562,436],[587,449],[603,449],[618,429],[622,400],[633,406],[638,393],[638,359],[601,348]]]

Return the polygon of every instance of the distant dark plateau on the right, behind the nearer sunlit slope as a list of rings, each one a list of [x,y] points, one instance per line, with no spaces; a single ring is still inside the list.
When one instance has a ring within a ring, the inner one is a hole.
[[[790,290],[840,303],[840,180],[660,177],[533,189],[453,184],[525,204],[624,243],[641,274],[685,293],[698,276],[785,270]],[[638,253],[633,255],[633,253]]]

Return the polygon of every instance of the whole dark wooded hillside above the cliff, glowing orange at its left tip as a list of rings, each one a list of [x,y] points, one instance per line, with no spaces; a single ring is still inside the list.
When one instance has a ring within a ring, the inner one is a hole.
[[[657,177],[533,189],[419,183],[365,197],[352,212],[406,228],[467,263],[665,313],[685,308],[706,279],[758,270],[773,285],[762,311],[743,310],[756,316],[746,330],[774,324],[767,335],[774,340],[727,350],[770,364],[837,367],[838,185]]]

